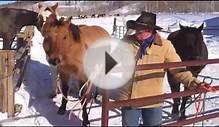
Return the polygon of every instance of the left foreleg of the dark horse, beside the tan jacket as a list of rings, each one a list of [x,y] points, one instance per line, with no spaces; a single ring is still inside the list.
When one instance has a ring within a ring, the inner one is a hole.
[[[171,75],[169,72],[167,72],[167,79],[170,84],[171,92],[179,92],[180,91],[180,84],[176,83],[174,80],[173,75]],[[173,108],[172,108],[172,114],[179,116],[179,105],[180,105],[180,98],[173,99]]]

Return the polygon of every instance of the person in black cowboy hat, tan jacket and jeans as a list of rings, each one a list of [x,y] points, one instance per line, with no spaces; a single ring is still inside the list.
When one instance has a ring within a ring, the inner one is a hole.
[[[157,32],[162,28],[156,25],[156,14],[142,11],[137,20],[127,21],[126,27],[127,33],[123,40],[136,54],[136,65],[181,61],[171,42],[162,38]],[[133,79],[118,89],[117,99],[126,100],[163,94],[165,71],[164,69],[136,71]],[[196,89],[200,85],[200,81],[184,67],[169,68],[168,71],[189,89]],[[145,126],[162,124],[162,103],[123,107],[121,112],[123,126],[138,126],[140,116]]]

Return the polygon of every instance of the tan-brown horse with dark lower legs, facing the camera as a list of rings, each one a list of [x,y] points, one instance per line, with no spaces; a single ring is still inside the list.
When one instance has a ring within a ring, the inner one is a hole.
[[[51,14],[42,27],[44,36],[43,48],[48,56],[48,62],[59,66],[59,74],[62,83],[63,95],[67,98],[69,89],[68,82],[72,74],[75,75],[79,87],[85,81],[83,72],[83,58],[85,50],[97,39],[110,37],[109,33],[99,26],[74,25],[71,23],[72,17],[57,19],[55,14]],[[82,99],[82,104],[84,99]],[[58,114],[66,111],[67,100],[63,97]],[[83,125],[89,124],[86,104],[82,107]]]

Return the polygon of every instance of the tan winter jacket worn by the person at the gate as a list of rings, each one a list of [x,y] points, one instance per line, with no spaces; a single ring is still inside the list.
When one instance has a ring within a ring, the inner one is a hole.
[[[131,40],[126,42],[136,55],[137,65],[181,61],[171,42],[162,38],[158,33],[151,46],[147,47],[147,55],[142,59],[139,58],[139,43]],[[192,76],[190,71],[185,70],[185,67],[169,68],[168,70],[174,75],[177,82],[181,82],[185,85],[190,85],[190,83],[196,79]],[[135,99],[163,94],[163,79],[166,71],[166,69],[135,71],[133,79],[119,89],[118,99]],[[160,107],[161,105],[162,103],[159,103],[142,106],[141,108]]]

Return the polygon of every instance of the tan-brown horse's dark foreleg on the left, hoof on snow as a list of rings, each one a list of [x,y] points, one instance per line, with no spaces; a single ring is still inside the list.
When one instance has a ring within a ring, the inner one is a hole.
[[[66,104],[67,104],[67,96],[68,96],[68,83],[66,81],[63,81],[61,80],[61,86],[62,86],[62,93],[63,93],[63,96],[62,97],[62,104],[61,106],[59,107],[59,110],[57,111],[58,114],[60,115],[63,115],[65,114],[65,111],[66,111]]]

